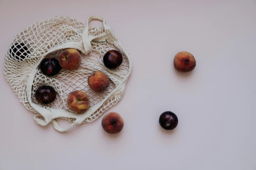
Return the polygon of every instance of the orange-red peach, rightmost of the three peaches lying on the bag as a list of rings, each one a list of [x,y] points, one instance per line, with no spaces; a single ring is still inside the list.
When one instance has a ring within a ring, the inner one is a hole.
[[[88,85],[94,92],[102,93],[109,87],[109,78],[104,72],[98,70],[88,77]]]

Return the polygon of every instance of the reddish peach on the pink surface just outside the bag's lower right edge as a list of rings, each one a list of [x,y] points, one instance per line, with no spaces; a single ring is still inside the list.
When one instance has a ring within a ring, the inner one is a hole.
[[[106,114],[101,120],[102,128],[109,134],[118,134],[124,127],[124,120],[116,112]]]

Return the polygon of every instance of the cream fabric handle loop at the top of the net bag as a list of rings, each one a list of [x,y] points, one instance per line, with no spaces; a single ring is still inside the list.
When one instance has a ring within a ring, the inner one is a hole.
[[[86,52],[85,54],[88,54],[89,52],[92,51],[92,45],[91,45],[91,41],[90,41],[90,38],[89,38],[89,22],[92,21],[92,20],[102,21],[104,29],[105,29],[105,33],[107,35],[109,35],[109,32],[111,31],[111,28],[110,28],[108,22],[103,17],[97,16],[97,15],[90,16],[87,19],[87,23],[85,25],[85,28],[84,28],[84,31],[83,31],[83,34],[82,34],[84,50]]]

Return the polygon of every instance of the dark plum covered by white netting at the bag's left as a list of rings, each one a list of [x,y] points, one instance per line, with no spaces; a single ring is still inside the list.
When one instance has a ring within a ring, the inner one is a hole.
[[[10,48],[10,54],[12,57],[22,61],[28,54],[30,54],[30,51],[24,43],[15,43]]]

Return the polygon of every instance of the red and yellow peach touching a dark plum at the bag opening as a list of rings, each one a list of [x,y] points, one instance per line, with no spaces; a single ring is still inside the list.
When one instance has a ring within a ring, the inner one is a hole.
[[[74,70],[81,63],[81,55],[76,49],[65,49],[59,55],[60,66],[65,70]]]

